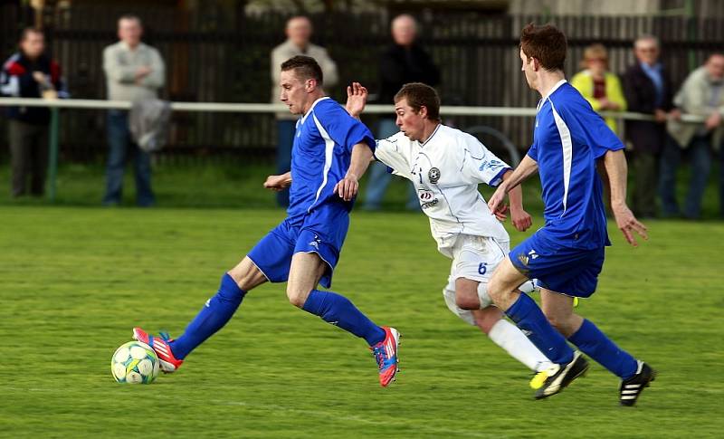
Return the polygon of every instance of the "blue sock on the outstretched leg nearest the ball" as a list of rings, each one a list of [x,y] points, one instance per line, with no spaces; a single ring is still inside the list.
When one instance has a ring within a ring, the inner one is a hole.
[[[246,291],[240,289],[228,273],[224,274],[219,291],[206,301],[205,307],[196,314],[194,320],[191,320],[184,334],[168,343],[174,352],[174,357],[186,358],[205,339],[222,329],[241,305],[244,294]]]

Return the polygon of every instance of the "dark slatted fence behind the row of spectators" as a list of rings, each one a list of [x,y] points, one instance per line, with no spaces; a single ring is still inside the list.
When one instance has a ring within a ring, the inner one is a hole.
[[[193,14],[167,7],[78,5],[45,11],[53,56],[61,63],[74,98],[105,96],[101,70],[103,47],[115,41],[120,14],[133,12],[144,20],[148,43],[167,62],[169,100],[212,102],[269,102],[271,49],[283,41],[287,15],[247,16],[243,11],[214,9]],[[0,6],[3,30],[0,47],[12,50],[17,32],[30,23],[30,14],[12,5]],[[338,63],[341,84],[362,81],[377,87],[377,53],[389,43],[386,14],[316,14],[313,40],[329,49]],[[539,15],[434,14],[420,16],[422,43],[441,67],[439,90],[443,104],[495,107],[533,107],[538,97],[519,72],[519,30],[530,22],[557,24],[570,46],[566,71],[578,70],[583,49],[590,43],[609,48],[611,70],[623,72],[633,62],[633,39],[653,33],[662,39],[663,62],[676,84],[709,52],[720,50],[724,20],[674,16],[580,17]],[[329,90],[343,97],[343,85]],[[367,119],[374,125],[374,119]],[[499,129],[520,148],[530,142],[530,119],[519,117],[455,116],[460,127],[487,125]],[[2,124],[0,124],[2,125]],[[104,114],[99,110],[72,111],[62,117],[61,151],[66,159],[92,160],[105,151]],[[2,134],[0,134],[2,135]],[[5,136],[3,136],[5,138]],[[275,124],[270,114],[176,113],[171,142],[163,157],[198,160],[204,157],[270,157]],[[185,158],[186,157],[186,158]]]

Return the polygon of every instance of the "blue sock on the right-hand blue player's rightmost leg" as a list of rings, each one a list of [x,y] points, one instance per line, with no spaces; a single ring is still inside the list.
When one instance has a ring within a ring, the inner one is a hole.
[[[616,346],[590,320],[583,320],[583,325],[568,340],[617,377],[626,379],[635,375],[636,359]]]

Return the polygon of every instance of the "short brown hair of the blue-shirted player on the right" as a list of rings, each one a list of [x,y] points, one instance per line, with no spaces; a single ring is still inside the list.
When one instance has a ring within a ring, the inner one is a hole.
[[[566,35],[553,24],[528,24],[520,32],[520,50],[535,58],[548,72],[563,70],[568,44]]]

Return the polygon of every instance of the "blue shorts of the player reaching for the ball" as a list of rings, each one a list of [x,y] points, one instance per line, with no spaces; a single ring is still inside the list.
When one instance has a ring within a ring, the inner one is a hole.
[[[282,221],[247,256],[269,282],[287,282],[294,253],[317,253],[328,265],[319,283],[329,288],[348,228],[344,205],[320,205],[310,214]]]

